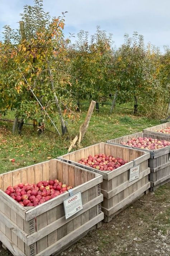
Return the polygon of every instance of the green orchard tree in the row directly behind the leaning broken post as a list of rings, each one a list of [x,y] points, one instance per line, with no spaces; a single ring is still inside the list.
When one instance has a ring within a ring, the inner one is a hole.
[[[97,27],[89,39],[89,33],[80,31],[78,40],[70,46],[71,74],[77,101],[105,100],[112,88],[110,65],[112,59],[112,35]]]

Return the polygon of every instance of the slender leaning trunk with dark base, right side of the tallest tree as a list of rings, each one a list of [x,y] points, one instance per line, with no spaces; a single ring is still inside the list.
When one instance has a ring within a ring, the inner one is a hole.
[[[48,60],[47,60],[47,62],[48,62]],[[51,87],[52,87],[52,90],[53,90],[54,98],[56,100],[56,106],[57,106],[57,109],[58,109],[58,114],[59,114],[59,117],[60,117],[61,131],[62,131],[62,135],[64,135],[64,134],[68,133],[68,130],[67,130],[67,127],[65,125],[63,116],[62,116],[62,111],[61,111],[60,104],[58,103],[57,95],[55,93],[53,77],[52,77],[52,73],[51,73],[51,69],[49,67],[49,64],[48,64],[48,71],[49,71],[49,75],[50,75],[50,78],[51,78]]]

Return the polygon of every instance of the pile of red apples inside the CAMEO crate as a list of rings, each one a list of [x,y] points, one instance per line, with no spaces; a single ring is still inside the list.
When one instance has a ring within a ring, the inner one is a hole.
[[[96,154],[94,157],[90,155],[87,158],[81,158],[79,163],[100,171],[113,171],[127,163],[127,161],[119,157],[115,158],[111,155]]]

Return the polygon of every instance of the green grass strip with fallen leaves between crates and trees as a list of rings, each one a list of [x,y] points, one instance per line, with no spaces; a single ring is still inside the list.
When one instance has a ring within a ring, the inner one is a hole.
[[[55,158],[66,153],[71,140],[75,137],[85,119],[87,110],[88,105],[85,105],[76,121],[66,119],[69,136],[63,138],[48,131],[38,136],[33,127],[29,125],[23,126],[22,135],[12,135],[13,123],[0,121],[0,173],[46,161],[49,158]],[[14,113],[12,111],[8,112],[5,117],[2,116],[1,118],[14,120]],[[94,111],[91,117],[81,147],[140,132],[159,123],[159,120],[133,116],[131,111],[127,109],[122,109],[120,113],[120,108],[117,108],[113,114],[109,115],[109,106],[101,107],[100,105],[100,112],[96,113]],[[58,128],[60,129],[60,125],[58,125]],[[55,131],[49,124],[47,129]],[[10,161],[12,158],[15,159],[14,163]]]

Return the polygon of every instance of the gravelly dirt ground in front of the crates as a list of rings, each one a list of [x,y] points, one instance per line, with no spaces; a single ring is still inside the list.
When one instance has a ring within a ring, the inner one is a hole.
[[[170,183],[141,197],[60,255],[169,256]],[[11,256],[1,244],[0,256]]]

